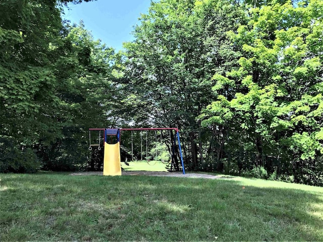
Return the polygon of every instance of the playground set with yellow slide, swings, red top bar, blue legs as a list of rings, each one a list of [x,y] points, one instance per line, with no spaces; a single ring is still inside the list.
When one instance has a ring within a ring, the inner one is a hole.
[[[174,144],[176,145],[176,140],[178,143],[179,154],[182,163],[183,174],[185,174],[184,162],[183,162],[183,154],[181,148],[181,141],[180,141],[180,134],[178,128],[133,128],[133,129],[89,129],[89,138],[90,138],[90,146],[89,150],[92,150],[92,146],[97,146],[98,150],[100,150],[100,139],[101,139],[101,131],[103,131],[103,175],[121,175],[121,151],[120,151],[120,142],[121,142],[121,132],[122,131],[163,131],[169,130],[170,132],[175,131],[174,136]],[[91,144],[91,131],[99,131],[99,143],[98,144]],[[115,144],[109,144],[108,138],[109,137],[116,137]],[[147,133],[146,133],[147,137]],[[132,145],[132,153],[133,153],[133,143]],[[172,162],[174,162],[175,151],[173,147],[172,153]],[[133,155],[133,154],[132,154]]]

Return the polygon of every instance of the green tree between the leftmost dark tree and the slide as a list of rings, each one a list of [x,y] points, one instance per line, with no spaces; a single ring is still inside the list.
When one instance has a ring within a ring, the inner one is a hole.
[[[44,168],[55,170],[84,168],[89,155],[87,130],[110,125],[107,113],[117,91],[111,74],[114,50],[94,40],[82,22],[66,25],[65,32],[62,45],[55,47],[65,56],[56,66],[62,83],[56,90],[59,110],[51,115],[60,135],[38,147]]]

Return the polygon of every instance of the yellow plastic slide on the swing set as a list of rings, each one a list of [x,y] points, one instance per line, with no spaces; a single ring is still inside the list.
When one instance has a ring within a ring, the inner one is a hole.
[[[121,175],[120,142],[104,142],[103,175]]]

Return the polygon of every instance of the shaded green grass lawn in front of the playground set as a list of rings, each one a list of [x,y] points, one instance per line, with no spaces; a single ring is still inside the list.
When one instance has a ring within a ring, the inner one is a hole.
[[[1,240],[323,240],[323,188],[247,178],[0,174]]]

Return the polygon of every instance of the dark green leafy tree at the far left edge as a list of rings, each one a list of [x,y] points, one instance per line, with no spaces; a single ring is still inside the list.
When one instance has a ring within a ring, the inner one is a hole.
[[[0,6],[2,162],[4,169],[9,160],[14,170],[24,169],[19,162],[28,153],[34,157],[35,168],[37,157],[31,146],[39,139],[36,129],[45,132],[39,118],[45,116],[42,110],[49,103],[58,103],[58,82],[48,45],[59,40],[60,9],[56,1],[2,1]]]

